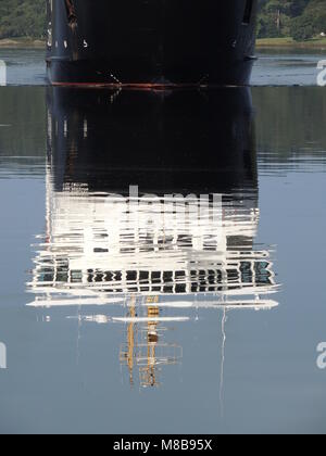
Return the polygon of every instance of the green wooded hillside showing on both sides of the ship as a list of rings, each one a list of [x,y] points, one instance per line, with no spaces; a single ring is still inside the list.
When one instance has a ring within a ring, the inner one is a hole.
[[[0,39],[40,38],[45,22],[45,0],[0,0]],[[260,0],[258,33],[260,38],[297,40],[326,34],[326,0]]]

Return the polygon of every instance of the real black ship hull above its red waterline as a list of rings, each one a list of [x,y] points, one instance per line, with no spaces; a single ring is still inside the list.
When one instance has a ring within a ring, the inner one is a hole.
[[[242,86],[256,0],[48,0],[53,85]]]

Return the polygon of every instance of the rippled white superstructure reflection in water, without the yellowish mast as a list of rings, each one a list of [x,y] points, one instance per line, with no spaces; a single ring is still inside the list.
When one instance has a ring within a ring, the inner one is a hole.
[[[276,291],[269,251],[254,248],[259,210],[250,194],[55,192],[49,176],[47,195],[33,306],[106,305],[141,294],[256,307]]]

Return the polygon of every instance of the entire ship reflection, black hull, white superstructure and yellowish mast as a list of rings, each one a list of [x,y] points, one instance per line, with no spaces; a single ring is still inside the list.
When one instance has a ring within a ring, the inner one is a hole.
[[[248,89],[49,89],[47,233],[29,305],[125,324],[121,362],[131,382],[138,366],[140,384],[155,385],[181,359],[164,342],[171,322],[277,306],[271,253],[254,246],[258,206]]]

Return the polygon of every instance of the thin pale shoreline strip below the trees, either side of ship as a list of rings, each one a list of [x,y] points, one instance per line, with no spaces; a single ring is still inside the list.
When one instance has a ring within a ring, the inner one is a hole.
[[[46,41],[33,38],[0,39],[0,49],[45,49]],[[314,38],[308,41],[294,41],[292,38],[261,38],[256,40],[258,49],[315,49],[326,51],[326,38]]]

